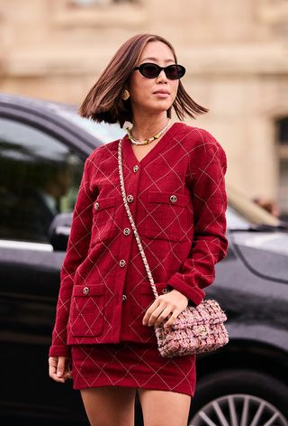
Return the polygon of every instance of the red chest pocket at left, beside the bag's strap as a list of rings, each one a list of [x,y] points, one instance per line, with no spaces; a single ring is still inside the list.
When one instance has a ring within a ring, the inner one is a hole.
[[[94,201],[91,246],[110,238],[114,227],[115,201],[115,197]]]

